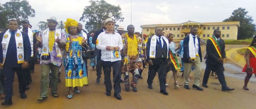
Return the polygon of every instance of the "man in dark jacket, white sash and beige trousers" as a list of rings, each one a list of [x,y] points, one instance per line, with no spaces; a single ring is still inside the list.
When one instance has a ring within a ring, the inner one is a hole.
[[[203,90],[200,88],[200,80],[201,80],[201,62],[202,62],[202,53],[200,47],[200,38],[197,36],[197,27],[192,27],[190,29],[190,35],[184,38],[183,45],[184,45],[184,53],[182,62],[184,62],[184,88],[190,89],[189,84],[191,82],[189,78],[189,74],[191,72],[191,68],[193,66],[195,79],[193,83],[193,88],[197,90]]]

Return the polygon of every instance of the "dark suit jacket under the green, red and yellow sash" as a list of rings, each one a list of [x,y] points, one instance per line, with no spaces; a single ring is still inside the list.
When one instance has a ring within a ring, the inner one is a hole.
[[[226,58],[225,43],[224,43],[224,40],[222,40],[221,38],[219,39],[219,46],[221,47],[222,58]],[[217,50],[215,49],[210,39],[207,40],[206,52],[207,52],[207,59],[206,59],[207,64],[212,64],[212,65],[221,64],[217,61],[217,59],[221,57],[219,56]]]

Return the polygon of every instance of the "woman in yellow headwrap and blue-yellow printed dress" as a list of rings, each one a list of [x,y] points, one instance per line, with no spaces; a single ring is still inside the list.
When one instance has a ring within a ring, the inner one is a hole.
[[[65,22],[67,43],[65,47],[65,82],[68,87],[68,98],[73,97],[72,87],[75,93],[80,93],[78,86],[88,84],[86,62],[82,58],[82,46],[86,40],[78,35],[78,22],[67,19]]]

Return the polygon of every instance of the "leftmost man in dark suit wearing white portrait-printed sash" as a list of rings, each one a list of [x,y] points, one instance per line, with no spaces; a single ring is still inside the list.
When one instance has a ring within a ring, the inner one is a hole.
[[[8,43],[8,49],[6,51],[6,57],[3,58],[3,49],[2,44],[0,44],[0,65],[3,64],[3,71],[5,73],[6,79],[5,79],[5,101],[3,101],[2,105],[12,105],[12,84],[14,81],[14,73],[17,73],[18,80],[19,80],[19,93],[20,97],[22,99],[25,99],[27,96],[25,94],[25,88],[26,88],[26,75],[25,69],[29,66],[29,58],[31,56],[31,47],[30,47],[30,41],[29,36],[25,32],[22,33],[23,42],[19,41],[19,43],[23,43],[23,53],[20,53],[19,60],[24,56],[24,62],[21,64],[18,64],[18,57],[17,57],[17,47],[15,37],[20,37],[20,34],[18,33],[18,22],[16,20],[10,20],[8,22],[9,32],[8,35],[5,35],[5,32],[0,33],[0,42],[3,44],[3,37],[5,40],[7,40],[8,37],[10,37],[9,43]],[[9,36],[10,35],[10,36]],[[18,39],[18,38],[17,38]],[[6,42],[6,41],[5,41]],[[2,68],[2,66],[1,66]]]

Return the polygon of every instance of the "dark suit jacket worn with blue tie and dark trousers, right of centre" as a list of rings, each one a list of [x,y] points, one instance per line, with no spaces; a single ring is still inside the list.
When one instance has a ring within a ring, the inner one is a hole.
[[[150,60],[154,60],[154,59],[151,59],[149,57],[150,55],[150,42],[151,42],[151,38],[148,38],[148,41],[147,41],[147,61],[150,61]],[[169,43],[169,42],[167,42]],[[167,44],[168,45],[168,44]],[[157,45],[156,45],[156,52],[155,52],[155,59],[157,58],[162,58],[162,55],[163,55],[163,58],[166,58],[167,57],[167,46],[166,46],[166,42],[165,40],[163,40],[163,48],[161,48],[161,45],[159,43],[159,41],[157,40]],[[169,56],[169,53],[168,53],[168,58],[166,58],[167,60],[170,60],[170,56]]]

